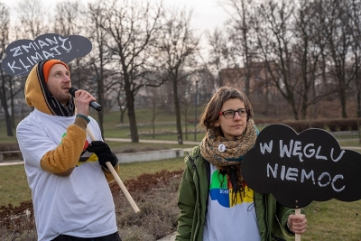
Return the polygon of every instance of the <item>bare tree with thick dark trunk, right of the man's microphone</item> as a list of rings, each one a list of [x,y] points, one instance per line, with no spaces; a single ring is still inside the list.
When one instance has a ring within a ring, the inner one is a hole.
[[[143,1],[108,1],[105,3],[104,29],[109,34],[107,46],[112,51],[115,64],[122,77],[121,88],[125,90],[132,142],[139,142],[134,112],[134,96],[144,84],[157,87],[156,79],[147,75],[153,58],[157,33],[160,30],[162,4],[152,6]]]

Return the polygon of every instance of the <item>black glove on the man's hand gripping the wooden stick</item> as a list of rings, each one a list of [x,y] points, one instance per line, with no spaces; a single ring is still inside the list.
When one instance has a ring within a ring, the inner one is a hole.
[[[110,162],[113,167],[118,163],[118,158],[115,153],[110,151],[109,145],[102,141],[93,141],[88,144],[87,151],[89,153],[96,153],[99,164],[107,169],[106,162]]]

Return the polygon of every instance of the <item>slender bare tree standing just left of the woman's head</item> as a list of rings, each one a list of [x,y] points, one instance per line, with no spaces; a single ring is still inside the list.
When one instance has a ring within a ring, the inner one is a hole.
[[[188,85],[188,77],[196,71],[199,38],[191,29],[192,11],[174,8],[167,11],[160,37],[161,68],[165,71],[163,78],[171,81],[176,115],[178,144],[183,144],[180,121],[180,83]],[[162,77],[161,77],[162,78]]]

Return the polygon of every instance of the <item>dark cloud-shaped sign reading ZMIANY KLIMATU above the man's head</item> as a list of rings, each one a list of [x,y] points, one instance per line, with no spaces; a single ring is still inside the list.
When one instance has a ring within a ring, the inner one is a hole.
[[[6,57],[1,68],[12,76],[27,76],[32,67],[41,60],[61,60],[65,63],[87,55],[91,42],[80,35],[61,36],[46,33],[35,40],[18,40],[6,48]]]

